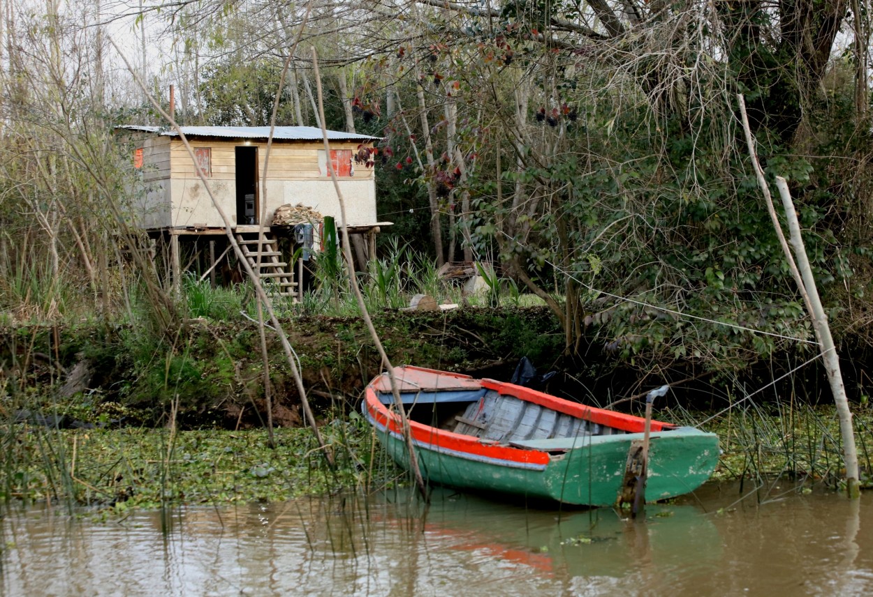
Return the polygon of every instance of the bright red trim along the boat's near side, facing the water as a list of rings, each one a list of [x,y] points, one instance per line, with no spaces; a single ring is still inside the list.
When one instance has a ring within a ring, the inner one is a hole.
[[[368,387],[366,393],[365,414],[369,422],[380,431],[387,431],[395,438],[403,437],[400,417],[388,411],[371,387]],[[443,431],[416,421],[409,421],[409,431],[416,446],[457,458],[533,471],[545,470],[550,462],[548,454],[543,451],[485,444],[478,438]]]

